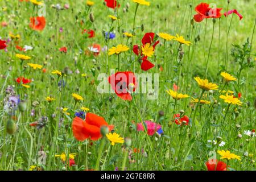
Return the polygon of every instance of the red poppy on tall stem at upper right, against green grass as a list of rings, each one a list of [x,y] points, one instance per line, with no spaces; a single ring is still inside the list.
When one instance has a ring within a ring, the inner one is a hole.
[[[201,22],[205,18],[220,18],[220,11],[222,8],[210,8],[207,3],[201,3],[196,6],[197,14],[194,15],[194,19],[196,22]]]

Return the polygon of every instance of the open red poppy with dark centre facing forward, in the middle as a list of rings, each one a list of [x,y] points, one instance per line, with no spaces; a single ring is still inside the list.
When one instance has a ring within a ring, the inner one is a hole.
[[[131,91],[135,92],[137,88],[137,78],[133,72],[117,72],[109,77],[109,84],[118,97],[125,101],[131,101],[133,98],[129,93],[129,86],[133,84],[133,90]]]

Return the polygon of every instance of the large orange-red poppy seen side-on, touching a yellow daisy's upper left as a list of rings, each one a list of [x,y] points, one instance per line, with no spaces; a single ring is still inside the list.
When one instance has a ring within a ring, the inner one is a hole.
[[[108,125],[104,118],[93,113],[87,113],[85,121],[79,117],[73,119],[73,135],[79,141],[84,141],[88,138],[98,140],[102,137],[100,131],[102,126],[108,126],[109,131],[114,128],[113,125]]]

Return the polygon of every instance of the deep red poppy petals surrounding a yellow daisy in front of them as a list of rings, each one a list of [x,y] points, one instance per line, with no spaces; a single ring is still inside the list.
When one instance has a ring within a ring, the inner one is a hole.
[[[152,33],[152,32],[146,33],[143,36],[142,41],[141,41],[142,42],[142,47],[145,46],[146,44],[150,44],[155,50],[155,47],[159,44],[159,41],[155,41],[154,38],[155,38],[155,33]],[[142,55],[142,51],[141,51],[141,49],[139,48],[138,45],[133,46],[133,52],[137,56],[139,56],[139,55],[142,56],[141,69],[143,71],[148,71],[149,69],[155,67],[154,64],[152,64],[150,61],[147,60],[147,56]]]

